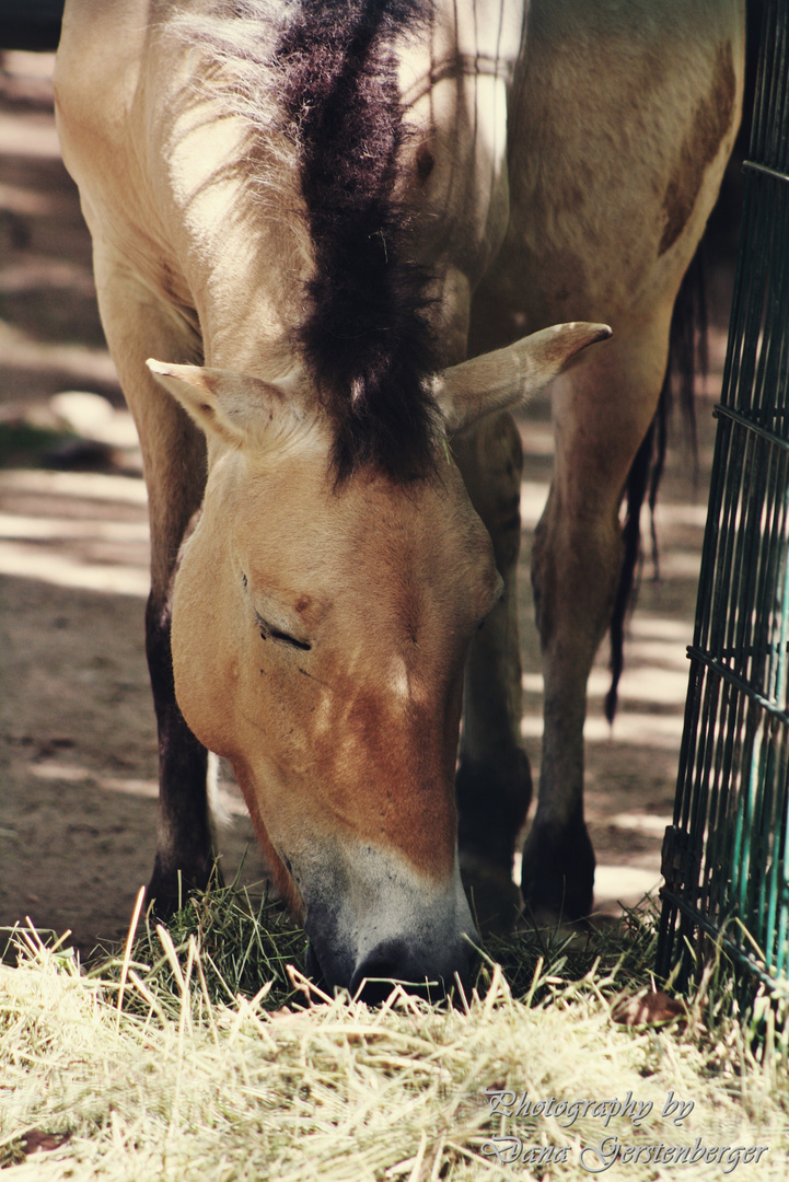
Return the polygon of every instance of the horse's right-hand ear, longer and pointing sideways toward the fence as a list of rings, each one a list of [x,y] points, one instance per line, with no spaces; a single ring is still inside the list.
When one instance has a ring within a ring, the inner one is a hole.
[[[587,345],[611,336],[607,324],[555,324],[506,349],[472,357],[439,374],[433,397],[446,434],[470,427],[494,410],[526,402],[548,385]]]

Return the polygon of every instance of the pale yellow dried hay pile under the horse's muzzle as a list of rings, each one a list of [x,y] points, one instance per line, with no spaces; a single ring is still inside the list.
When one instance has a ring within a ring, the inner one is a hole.
[[[599,965],[568,982],[537,961],[522,1000],[491,965],[465,1012],[398,991],[379,1009],[321,999],[293,969],[309,1004],[267,1011],[269,983],[213,996],[200,930],[177,949],[164,929],[145,939],[169,993],[139,944],[115,980],[34,936],[0,966],[9,1182],[787,1177],[785,1065],[756,1063],[732,1022],[710,1037],[700,1012],[617,1025]]]

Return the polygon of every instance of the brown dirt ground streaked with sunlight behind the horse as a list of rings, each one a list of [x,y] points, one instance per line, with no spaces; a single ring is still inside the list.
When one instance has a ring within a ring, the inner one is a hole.
[[[98,937],[125,934],[154,857],[145,491],[98,319],[87,230],[60,161],[52,58],[9,53],[2,65],[0,926],[30,916],[39,929],[71,929],[89,952]],[[647,561],[613,732],[602,716],[605,650],[591,681],[587,817],[596,900],[609,911],[660,878],[724,346],[718,330],[713,372],[699,391],[698,481],[676,430],[658,512],[661,578],[653,580]],[[541,678],[528,558],[550,479],[547,402],[529,409],[522,431],[523,734],[536,771]],[[232,813],[221,838],[224,873],[248,847],[244,878],[255,882],[262,864],[252,826],[227,768],[223,779]],[[0,935],[0,952],[4,943]]]

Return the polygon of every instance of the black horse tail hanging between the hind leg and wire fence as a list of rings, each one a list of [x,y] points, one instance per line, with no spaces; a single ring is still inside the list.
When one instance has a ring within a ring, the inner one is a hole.
[[[674,303],[669,336],[669,361],[658,407],[635,454],[625,485],[624,559],[609,625],[611,688],[605,701],[608,722],[613,722],[617,713],[617,691],[624,665],[625,619],[635,602],[638,590],[637,571],[641,559],[641,507],[645,500],[648,501],[651,514],[654,577],[656,579],[659,577],[654,506],[666,461],[669,420],[677,402],[679,402],[687,423],[693,463],[697,463],[693,389],[696,375],[705,376],[708,371],[706,329],[704,264],[699,248],[685,272]]]

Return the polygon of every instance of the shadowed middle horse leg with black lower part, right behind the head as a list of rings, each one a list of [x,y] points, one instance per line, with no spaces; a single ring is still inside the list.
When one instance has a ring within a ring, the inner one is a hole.
[[[504,579],[503,599],[475,636],[465,667],[456,778],[461,872],[478,923],[507,929],[520,909],[513,856],[532,799],[521,747],[516,586],[523,449],[511,416],[502,414],[456,436],[452,452]]]

